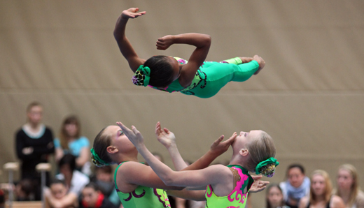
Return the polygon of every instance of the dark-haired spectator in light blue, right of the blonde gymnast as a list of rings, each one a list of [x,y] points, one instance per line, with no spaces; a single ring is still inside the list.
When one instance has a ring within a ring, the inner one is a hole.
[[[287,180],[279,184],[284,201],[291,208],[297,208],[300,199],[309,195],[309,178],[304,175],[304,168],[299,164],[289,165],[286,172]]]

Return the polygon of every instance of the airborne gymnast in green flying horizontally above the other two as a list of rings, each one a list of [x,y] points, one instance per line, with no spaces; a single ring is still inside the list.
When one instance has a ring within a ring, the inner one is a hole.
[[[166,50],[173,44],[195,46],[188,61],[169,56],[141,59],[125,36],[125,27],[130,18],[144,14],[146,12],[139,12],[139,8],[124,10],[114,30],[120,51],[134,72],[132,82],[136,85],[210,98],[228,82],[244,82],[252,75],[257,75],[265,66],[265,61],[258,55],[253,58],[236,57],[221,62],[205,61],[211,45],[211,36],[193,33],[164,36],[157,41],[158,50]]]

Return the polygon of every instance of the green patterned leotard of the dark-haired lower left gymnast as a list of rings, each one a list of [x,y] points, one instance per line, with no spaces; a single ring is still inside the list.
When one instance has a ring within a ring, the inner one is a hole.
[[[123,163],[120,163],[120,165],[122,165]],[[118,185],[116,185],[116,173],[118,172],[120,165],[118,165],[118,168],[116,168],[115,170],[114,181],[120,202],[123,204],[125,208],[171,207],[171,205],[169,205],[169,200],[166,191],[160,188],[138,186],[131,193],[123,193],[119,191]]]

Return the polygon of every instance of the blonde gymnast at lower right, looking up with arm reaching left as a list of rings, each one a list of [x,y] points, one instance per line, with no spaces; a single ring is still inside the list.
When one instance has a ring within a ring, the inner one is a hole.
[[[276,148],[272,138],[264,131],[258,130],[233,134],[235,141],[231,145],[233,153],[228,166],[211,165],[201,170],[173,171],[148,151],[137,128],[132,126],[130,130],[121,122],[117,124],[166,186],[206,188],[205,194],[195,194],[193,200],[204,200],[206,197],[206,207],[209,208],[244,208],[249,189],[253,191],[254,186],[265,188],[268,183],[253,183],[254,179],[248,172],[272,177],[276,165],[279,165],[274,158]]]

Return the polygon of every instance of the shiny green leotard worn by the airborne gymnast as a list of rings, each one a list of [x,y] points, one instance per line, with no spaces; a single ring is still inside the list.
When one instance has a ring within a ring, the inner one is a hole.
[[[188,61],[179,57],[174,57],[179,64],[187,64]],[[164,89],[172,93],[180,91],[186,95],[193,95],[199,98],[211,98],[216,95],[228,82],[244,82],[248,80],[259,68],[257,61],[242,64],[241,59],[234,58],[221,62],[204,61],[197,70],[192,84],[182,87],[179,80],[174,80],[172,84]],[[156,87],[153,87],[157,89]]]

